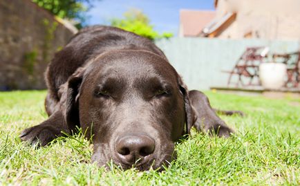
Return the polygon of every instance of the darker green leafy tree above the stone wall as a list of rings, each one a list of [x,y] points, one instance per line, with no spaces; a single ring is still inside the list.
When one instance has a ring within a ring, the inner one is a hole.
[[[91,8],[91,1],[94,0],[32,0],[57,17],[76,21],[77,28],[81,28],[86,21],[84,12]],[[86,3],[86,6],[83,3]]]

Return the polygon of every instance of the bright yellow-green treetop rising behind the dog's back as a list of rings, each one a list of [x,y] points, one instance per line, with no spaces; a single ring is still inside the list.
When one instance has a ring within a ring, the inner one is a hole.
[[[173,37],[173,33],[171,32],[163,32],[160,35],[158,32],[153,30],[153,25],[150,24],[150,20],[147,15],[144,15],[142,10],[138,9],[130,9],[127,12],[124,12],[123,19],[111,19],[111,26],[135,32],[135,34],[147,37],[151,40]]]

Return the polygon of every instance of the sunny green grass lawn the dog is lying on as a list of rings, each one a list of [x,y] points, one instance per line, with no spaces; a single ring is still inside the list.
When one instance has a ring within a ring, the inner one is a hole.
[[[178,160],[162,172],[111,171],[91,164],[82,135],[35,149],[19,133],[47,118],[45,91],[0,93],[0,185],[300,185],[300,99],[271,100],[207,92],[218,109],[247,115],[221,117],[231,138],[193,132],[178,143]]]

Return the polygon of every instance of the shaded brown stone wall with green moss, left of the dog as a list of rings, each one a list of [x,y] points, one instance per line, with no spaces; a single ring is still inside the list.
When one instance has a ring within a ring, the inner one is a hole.
[[[44,71],[74,34],[30,0],[0,1],[0,91],[45,89]]]

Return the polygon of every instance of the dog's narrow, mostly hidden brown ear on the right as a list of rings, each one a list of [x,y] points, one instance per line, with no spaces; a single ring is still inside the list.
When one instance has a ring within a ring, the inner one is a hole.
[[[185,101],[185,124],[186,124],[186,133],[190,133],[191,127],[193,127],[194,122],[197,120],[197,115],[191,105],[189,100],[189,91],[187,90],[187,85],[183,83],[181,77],[178,77],[178,84],[180,93],[183,95],[183,100]]]

